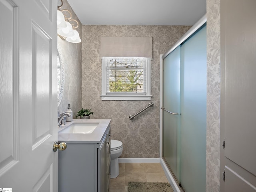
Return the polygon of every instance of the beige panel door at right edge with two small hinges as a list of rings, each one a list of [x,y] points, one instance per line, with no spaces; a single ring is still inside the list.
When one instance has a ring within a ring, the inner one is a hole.
[[[256,192],[256,1],[221,4],[222,192]]]

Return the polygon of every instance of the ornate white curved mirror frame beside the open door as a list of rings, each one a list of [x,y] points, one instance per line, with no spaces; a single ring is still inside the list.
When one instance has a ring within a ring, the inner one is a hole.
[[[58,56],[60,59],[60,89],[58,90],[58,107],[63,97],[64,92],[64,84],[65,84],[65,70],[64,70],[64,60],[62,50],[60,48],[60,44],[57,46],[58,48]]]

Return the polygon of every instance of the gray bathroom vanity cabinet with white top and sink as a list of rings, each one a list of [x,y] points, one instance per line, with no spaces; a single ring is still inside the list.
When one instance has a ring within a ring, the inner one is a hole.
[[[110,119],[74,119],[60,127],[59,192],[108,192],[110,182]]]

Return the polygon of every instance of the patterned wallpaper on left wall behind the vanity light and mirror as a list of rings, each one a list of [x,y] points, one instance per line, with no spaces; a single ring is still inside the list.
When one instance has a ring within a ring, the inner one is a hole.
[[[79,27],[76,30],[82,39],[82,24],[66,0],[63,0],[63,6],[60,8],[63,9],[70,10],[72,18],[78,21]],[[74,118],[75,112],[82,106],[82,43],[73,44],[58,37],[58,44],[62,50],[65,68],[64,93],[58,110],[60,113],[66,111],[70,103]]]

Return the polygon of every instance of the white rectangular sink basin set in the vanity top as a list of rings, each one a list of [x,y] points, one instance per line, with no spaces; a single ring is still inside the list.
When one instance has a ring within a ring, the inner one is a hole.
[[[99,123],[73,123],[66,129],[63,129],[59,133],[79,133],[79,134],[90,134],[92,133]]]

